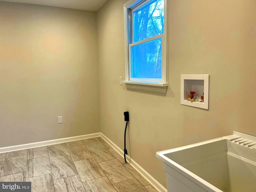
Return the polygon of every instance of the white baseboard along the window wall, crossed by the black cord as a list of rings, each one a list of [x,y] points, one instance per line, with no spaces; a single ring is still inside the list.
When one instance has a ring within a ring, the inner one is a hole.
[[[104,134],[100,133],[100,136],[114,149],[118,154],[122,157],[124,155],[124,151],[120,149],[116,144],[114,144],[109,138],[107,138]],[[130,156],[126,156],[127,162],[139,172],[158,192],[167,192],[167,189],[162,186],[154,177],[152,177],[146,170],[144,170],[136,161],[134,161]]]

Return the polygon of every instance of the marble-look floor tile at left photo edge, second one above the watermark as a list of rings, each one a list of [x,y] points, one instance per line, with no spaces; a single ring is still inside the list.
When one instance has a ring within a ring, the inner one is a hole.
[[[27,155],[6,158],[0,176],[26,172]]]

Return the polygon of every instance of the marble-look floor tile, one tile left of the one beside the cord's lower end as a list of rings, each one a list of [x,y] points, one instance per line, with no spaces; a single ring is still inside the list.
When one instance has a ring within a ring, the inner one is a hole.
[[[105,146],[96,146],[88,148],[96,162],[115,159],[114,155]]]

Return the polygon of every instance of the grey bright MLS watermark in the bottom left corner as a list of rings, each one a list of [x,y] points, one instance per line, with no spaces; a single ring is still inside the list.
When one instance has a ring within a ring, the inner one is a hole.
[[[0,182],[0,192],[31,192],[31,182]]]

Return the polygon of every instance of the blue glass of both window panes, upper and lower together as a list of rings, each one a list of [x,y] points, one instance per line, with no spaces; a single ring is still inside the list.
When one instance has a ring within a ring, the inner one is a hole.
[[[164,0],[152,0],[132,13],[133,43],[164,33]],[[162,38],[130,47],[131,78],[162,78]]]

